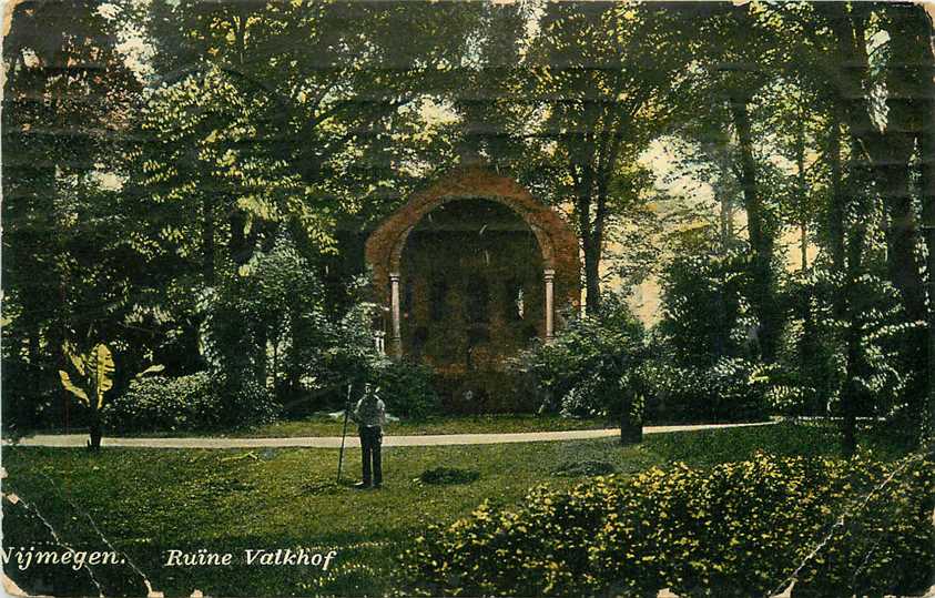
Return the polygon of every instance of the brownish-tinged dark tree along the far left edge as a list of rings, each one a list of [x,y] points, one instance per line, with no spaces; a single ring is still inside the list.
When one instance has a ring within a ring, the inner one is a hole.
[[[98,202],[112,199],[103,174],[119,171],[139,82],[102,6],[19,3],[3,39],[3,405],[26,397],[26,425],[60,396],[48,372],[63,357],[43,347],[128,332],[110,323],[126,288],[111,266],[130,257]]]

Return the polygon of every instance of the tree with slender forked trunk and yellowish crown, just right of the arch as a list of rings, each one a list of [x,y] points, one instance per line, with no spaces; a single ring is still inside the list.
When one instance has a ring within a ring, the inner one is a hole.
[[[571,204],[589,310],[600,308],[600,262],[614,192],[628,186],[621,166],[636,161],[682,105],[689,59],[675,24],[661,7],[549,3],[528,50],[533,77],[527,93],[537,118],[530,135],[547,140],[540,148],[560,165],[552,195]],[[669,51],[653,51],[662,45]]]

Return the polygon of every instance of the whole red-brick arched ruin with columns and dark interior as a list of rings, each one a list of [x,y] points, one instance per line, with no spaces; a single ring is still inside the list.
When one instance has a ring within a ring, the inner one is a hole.
[[[575,232],[484,166],[458,168],[415,194],[370,234],[366,261],[386,352],[453,379],[501,372],[580,306]]]

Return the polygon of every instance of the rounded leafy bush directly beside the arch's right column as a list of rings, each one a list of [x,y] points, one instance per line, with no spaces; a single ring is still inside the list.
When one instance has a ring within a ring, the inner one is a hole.
[[[550,343],[525,351],[514,367],[539,388],[543,408],[575,416],[616,416],[641,394],[643,327],[620,297],[594,316],[576,317]],[[629,408],[628,408],[629,411]]]

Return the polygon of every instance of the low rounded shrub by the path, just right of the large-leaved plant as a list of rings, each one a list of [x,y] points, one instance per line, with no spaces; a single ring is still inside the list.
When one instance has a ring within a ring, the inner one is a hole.
[[[104,425],[121,433],[216,428],[222,409],[215,387],[207,372],[134,379],[104,407]]]

